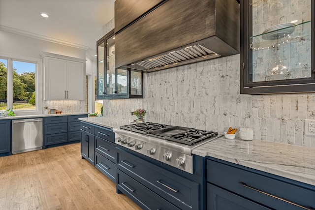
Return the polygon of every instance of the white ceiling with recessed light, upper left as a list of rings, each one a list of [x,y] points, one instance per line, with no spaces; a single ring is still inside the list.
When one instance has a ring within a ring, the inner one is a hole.
[[[114,17],[115,0],[0,0],[0,30],[96,53],[103,26]],[[41,17],[47,13],[49,18]]]

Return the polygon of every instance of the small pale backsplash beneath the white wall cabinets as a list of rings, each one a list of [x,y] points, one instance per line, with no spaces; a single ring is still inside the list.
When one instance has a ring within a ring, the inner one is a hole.
[[[82,112],[82,106],[85,106],[84,101],[77,100],[45,100],[43,107],[47,106],[48,109],[56,109],[63,113]]]

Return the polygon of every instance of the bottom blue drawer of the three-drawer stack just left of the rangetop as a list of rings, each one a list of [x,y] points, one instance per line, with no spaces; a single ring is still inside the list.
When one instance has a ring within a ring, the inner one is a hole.
[[[115,164],[97,152],[95,152],[95,167],[106,177],[117,183]]]

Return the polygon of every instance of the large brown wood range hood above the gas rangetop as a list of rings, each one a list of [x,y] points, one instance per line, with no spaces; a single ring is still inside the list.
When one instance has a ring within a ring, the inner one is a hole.
[[[117,1],[115,24],[120,21],[117,6],[124,0]],[[237,0],[157,2],[115,31],[115,67],[152,72],[239,53]]]

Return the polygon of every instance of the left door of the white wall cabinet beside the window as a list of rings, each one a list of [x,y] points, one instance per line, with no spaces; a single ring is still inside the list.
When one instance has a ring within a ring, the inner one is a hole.
[[[65,100],[66,60],[45,57],[45,95],[44,100]]]

